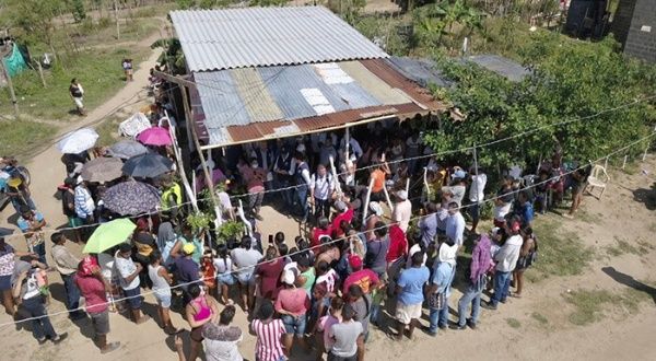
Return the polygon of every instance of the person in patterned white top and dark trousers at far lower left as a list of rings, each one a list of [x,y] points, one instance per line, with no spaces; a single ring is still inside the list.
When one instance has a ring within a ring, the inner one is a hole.
[[[14,299],[21,300],[21,308],[25,316],[36,317],[32,319],[32,331],[38,341],[38,345],[44,345],[48,338],[52,343],[57,345],[63,341],[68,334],[57,334],[55,331],[55,328],[50,323],[50,317],[48,317],[45,298],[42,293],[43,289],[48,287],[47,281],[46,284],[42,283],[40,280],[43,280],[43,277],[39,275],[42,272],[45,273],[45,270],[39,268],[45,267],[45,265],[38,261],[34,261],[33,264],[35,264],[34,266],[37,268],[28,268],[19,273],[13,288],[13,296]]]

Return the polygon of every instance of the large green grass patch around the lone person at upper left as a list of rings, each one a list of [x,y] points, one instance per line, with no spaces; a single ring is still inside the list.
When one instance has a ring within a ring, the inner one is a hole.
[[[117,48],[80,53],[70,59],[67,69],[55,67],[46,72],[47,88],[42,85],[37,71],[24,71],[13,79],[21,114],[47,120],[74,119],[69,113],[74,108],[68,92],[72,78],[84,88],[84,106],[91,110],[125,85],[121,59],[129,56],[139,63],[147,51]],[[12,112],[7,89],[0,91],[0,112]]]

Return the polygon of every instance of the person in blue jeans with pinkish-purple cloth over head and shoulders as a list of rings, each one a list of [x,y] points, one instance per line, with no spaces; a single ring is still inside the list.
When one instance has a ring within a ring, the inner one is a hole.
[[[467,326],[476,329],[478,317],[481,312],[481,294],[485,289],[487,273],[490,269],[492,255],[490,253],[492,242],[487,234],[480,236],[471,252],[471,265],[469,266],[469,284],[458,301],[458,324],[452,329],[465,329]],[[467,318],[467,307],[471,304],[471,318]]]

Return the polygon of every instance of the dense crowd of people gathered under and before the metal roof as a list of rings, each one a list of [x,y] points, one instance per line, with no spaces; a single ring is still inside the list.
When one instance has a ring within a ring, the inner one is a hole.
[[[585,172],[554,177],[563,172],[557,153],[540,164],[538,176],[512,167],[494,189],[476,164],[438,164],[414,130],[375,123],[364,131],[367,137],[354,135],[367,139],[362,144],[343,132],[326,132],[234,147],[211,160],[221,217],[235,220],[245,213],[249,232],[241,238],[214,234],[210,242],[211,230],[197,230],[181,217],[181,191],[169,180],[155,185],[163,201],[168,194],[174,203],[136,219],[133,235],[114,248],[80,259],[66,247],[69,235],[52,234],[50,267],[40,246],[46,220],[33,202],[17,205],[31,252],[21,254],[0,241],[3,305],[12,315],[16,303],[26,316],[39,315],[32,321],[37,340],[59,342],[66,335],[48,322],[47,296],[42,292],[40,303],[31,301],[35,289],[47,289],[38,275],[56,269],[70,317],[91,318],[102,352],[119,346],[107,340],[109,312],[126,312],[137,325],[148,322],[142,292],[150,289],[156,322],[176,335],[180,360],[196,360],[201,352],[207,360],[242,360],[243,331],[255,335],[257,360],[283,360],[311,349],[317,360],[326,354],[363,360],[372,327],[393,326],[389,333],[397,339],[412,338],[415,328],[431,336],[447,328],[476,329],[481,307],[497,310],[508,296],[520,298],[523,273],[538,253],[534,206],[544,211],[569,188],[577,199]],[[199,189],[209,184],[202,174],[198,170]],[[66,183],[62,206],[71,226],[91,228],[104,218],[94,200],[102,193],[72,177]],[[239,190],[248,195],[245,209],[231,202],[230,194]],[[490,198],[494,228],[479,233]],[[267,202],[296,217],[307,232],[293,240],[278,232],[265,242],[259,223],[267,221],[260,213]],[[85,228],[78,230],[73,241],[85,242]],[[456,283],[462,290],[457,301],[450,299]],[[455,319],[449,306],[457,310]],[[238,308],[248,316],[247,330],[233,325]],[[427,325],[420,322],[424,310]],[[180,312],[188,324],[188,354],[171,312]]]

